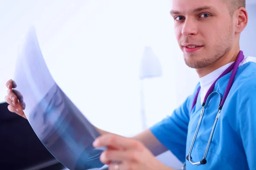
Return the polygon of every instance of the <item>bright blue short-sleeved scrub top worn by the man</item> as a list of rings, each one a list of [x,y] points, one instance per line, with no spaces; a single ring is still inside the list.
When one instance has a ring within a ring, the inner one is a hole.
[[[221,77],[213,91],[224,96],[231,72]],[[207,164],[194,166],[186,160],[202,105],[200,94],[191,111],[198,90],[189,96],[171,116],[150,127],[156,138],[181,162],[187,170],[256,170],[256,63],[247,62],[238,68],[230,93],[224,102],[212,143]],[[207,142],[218,111],[219,97],[212,96],[206,108],[197,139],[192,150],[195,162],[204,157]]]

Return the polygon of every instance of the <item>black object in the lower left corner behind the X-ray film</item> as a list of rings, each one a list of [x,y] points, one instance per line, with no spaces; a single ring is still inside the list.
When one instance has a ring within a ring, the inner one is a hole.
[[[29,122],[0,103],[0,170],[63,170]]]

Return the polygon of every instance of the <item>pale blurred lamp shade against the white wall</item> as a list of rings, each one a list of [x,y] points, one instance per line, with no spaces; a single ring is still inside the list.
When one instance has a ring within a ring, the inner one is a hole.
[[[162,76],[160,60],[150,46],[145,46],[140,61],[140,79]]]

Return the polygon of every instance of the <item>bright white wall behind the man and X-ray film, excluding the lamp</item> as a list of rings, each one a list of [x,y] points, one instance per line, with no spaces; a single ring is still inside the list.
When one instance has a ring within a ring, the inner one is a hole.
[[[177,50],[169,0],[0,4],[0,102],[6,95],[5,82],[14,73],[18,46],[34,24],[53,78],[94,125],[124,136],[142,130],[139,65],[144,45],[153,48],[163,69],[162,77],[144,82],[148,126],[171,114],[179,103],[174,71],[176,59],[183,63],[183,57]]]

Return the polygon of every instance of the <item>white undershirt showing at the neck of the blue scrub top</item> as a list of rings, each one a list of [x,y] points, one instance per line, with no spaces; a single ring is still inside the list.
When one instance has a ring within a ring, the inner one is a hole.
[[[247,62],[256,62],[256,57],[244,57],[243,61],[239,66]],[[233,62],[228,63],[227,65],[218,68],[215,71],[212,71],[210,74],[199,79],[201,85],[201,104],[204,102],[204,97],[207,94],[207,91],[211,87],[212,83],[232,64]]]

